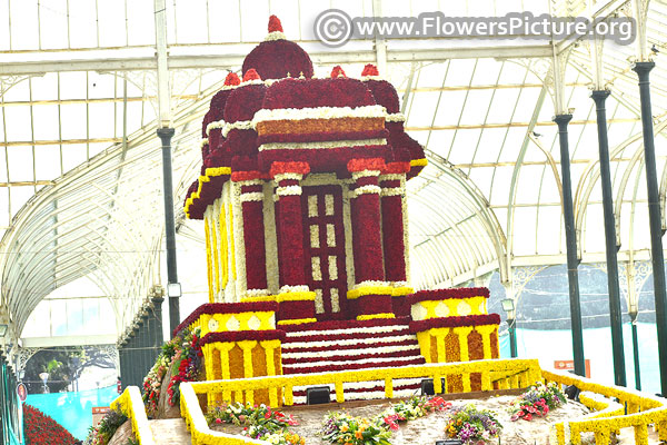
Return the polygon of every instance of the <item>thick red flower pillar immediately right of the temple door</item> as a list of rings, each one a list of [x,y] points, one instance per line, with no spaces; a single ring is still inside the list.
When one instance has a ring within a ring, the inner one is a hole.
[[[348,299],[356,301],[357,319],[394,318],[391,286],[385,281],[380,229],[382,159],[352,159],[348,170],[355,179],[351,206],[355,287]]]

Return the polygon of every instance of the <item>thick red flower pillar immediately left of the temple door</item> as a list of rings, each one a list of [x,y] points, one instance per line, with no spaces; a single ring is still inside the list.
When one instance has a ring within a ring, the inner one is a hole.
[[[310,168],[307,162],[273,162],[271,177],[276,181],[276,231],[278,233],[278,266],[280,269],[280,303],[278,324],[317,322],[315,293],[306,285],[303,257],[303,214],[301,179]]]

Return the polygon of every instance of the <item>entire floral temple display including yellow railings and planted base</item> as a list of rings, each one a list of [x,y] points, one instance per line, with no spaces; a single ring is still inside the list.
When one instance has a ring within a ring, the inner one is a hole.
[[[410,286],[406,182],[427,160],[379,75],[367,65],[358,79],[341,67],[316,78],[271,16],[212,97],[185,197],[187,217],[203,221],[209,301],[162,345],[143,394],[129,385],[111,404],[138,443],[389,445],[397,422],[445,409],[446,424],[424,421],[396,444],[496,443],[501,428],[508,444],[667,443],[664,398],[499,358],[487,288]],[[525,425],[566,404],[564,393],[578,403]],[[306,419],[298,434],[290,409]],[[344,412],[316,432],[323,409]]]

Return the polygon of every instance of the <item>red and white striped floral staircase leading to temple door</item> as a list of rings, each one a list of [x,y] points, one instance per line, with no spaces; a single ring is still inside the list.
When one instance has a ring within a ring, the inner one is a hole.
[[[282,374],[315,374],[379,367],[402,367],[426,363],[417,336],[410,333],[410,319],[400,317],[375,320],[319,322],[286,325],[282,342]],[[395,382],[395,397],[415,394],[420,379]],[[330,385],[331,399],[335,398]],[[344,385],[346,400],[382,398],[385,382]],[[293,389],[295,404],[306,403],[306,387]]]

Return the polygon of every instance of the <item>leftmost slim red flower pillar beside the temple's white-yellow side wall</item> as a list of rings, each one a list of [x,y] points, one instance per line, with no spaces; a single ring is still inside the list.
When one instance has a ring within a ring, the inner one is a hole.
[[[241,186],[241,206],[248,289],[246,295],[248,297],[265,296],[268,295],[268,290],[261,179],[243,181]]]

